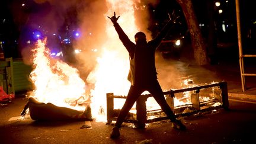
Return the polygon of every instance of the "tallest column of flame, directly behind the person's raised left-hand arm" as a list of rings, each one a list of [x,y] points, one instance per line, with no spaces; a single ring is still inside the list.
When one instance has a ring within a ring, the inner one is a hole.
[[[113,23],[107,16],[116,12],[121,15],[118,22],[125,30],[127,36],[132,38],[137,32],[135,25],[134,9],[132,0],[114,1],[108,0],[108,12],[105,14],[107,23],[107,40],[103,53],[98,57],[98,65],[87,78],[88,82],[94,82],[95,88],[91,91],[92,116],[98,121],[106,121],[106,93],[114,92],[115,95],[126,95],[130,82],[127,80],[129,72],[129,53],[119,40]],[[132,39],[131,39],[132,40]],[[121,101],[121,102],[120,102]],[[122,100],[114,100],[114,107],[121,108],[124,104]]]

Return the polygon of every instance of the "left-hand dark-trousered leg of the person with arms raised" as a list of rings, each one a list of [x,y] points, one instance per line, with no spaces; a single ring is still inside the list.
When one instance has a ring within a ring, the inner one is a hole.
[[[112,132],[110,134],[110,137],[112,139],[115,139],[120,136],[119,129],[121,127],[121,124],[123,123],[123,120],[129,113],[130,109],[132,108],[133,104],[135,103],[135,101],[137,100],[137,98],[139,97],[139,95],[141,93],[142,93],[141,89],[133,87],[133,86],[130,87],[126,101],[125,101],[123,107],[121,108],[119,116],[117,117],[116,124],[113,127]]]

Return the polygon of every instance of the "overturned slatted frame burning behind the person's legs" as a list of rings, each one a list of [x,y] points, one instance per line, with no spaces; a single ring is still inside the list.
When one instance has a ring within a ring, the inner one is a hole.
[[[211,89],[209,91],[209,89]],[[189,94],[188,96],[177,100],[175,98],[175,94],[179,94],[184,92],[185,94]],[[200,93],[200,94],[199,94]],[[176,117],[179,116],[188,116],[191,114],[197,114],[201,111],[209,111],[217,108],[225,108],[228,109],[228,89],[226,82],[219,82],[209,85],[200,85],[196,87],[189,87],[183,89],[175,89],[165,91],[166,100],[174,111]],[[204,95],[204,96],[203,96]],[[207,96],[207,97],[205,97]],[[140,97],[145,97],[144,103],[148,98],[151,98],[151,95],[140,95]],[[124,96],[114,95],[113,93],[107,94],[107,121],[108,124],[111,124],[113,120],[116,120],[116,113],[118,113],[116,109],[114,109],[114,98],[126,98]],[[175,100],[176,99],[176,100]],[[189,100],[188,100],[189,99]],[[184,103],[185,102],[185,103]],[[155,121],[166,120],[168,117],[164,114],[161,109],[149,110],[146,108],[146,123],[152,123]],[[138,111],[138,110],[137,110]],[[124,122],[126,123],[137,123],[136,114],[129,113],[132,116],[126,117]]]

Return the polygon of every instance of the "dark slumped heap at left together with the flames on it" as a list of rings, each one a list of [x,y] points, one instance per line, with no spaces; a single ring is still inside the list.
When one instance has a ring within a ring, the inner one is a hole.
[[[45,44],[46,40],[38,40],[32,50],[30,80],[35,88],[21,116],[29,111],[33,120],[92,120],[91,97],[85,95],[85,82],[77,69],[52,59]]]

